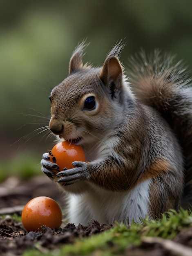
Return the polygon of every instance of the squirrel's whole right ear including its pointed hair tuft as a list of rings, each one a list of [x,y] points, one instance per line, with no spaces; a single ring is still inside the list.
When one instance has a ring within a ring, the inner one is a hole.
[[[107,55],[100,72],[100,79],[107,86],[112,97],[117,97],[122,85],[123,66],[118,59],[118,53],[121,52],[123,47],[124,45],[121,45],[121,42],[114,46]]]

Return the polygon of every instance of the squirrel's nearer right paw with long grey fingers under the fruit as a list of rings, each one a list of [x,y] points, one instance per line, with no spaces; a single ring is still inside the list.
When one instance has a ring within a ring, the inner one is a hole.
[[[56,177],[59,179],[57,182],[65,183],[65,186],[74,184],[79,181],[87,180],[87,163],[86,162],[73,162],[75,168],[60,171]]]

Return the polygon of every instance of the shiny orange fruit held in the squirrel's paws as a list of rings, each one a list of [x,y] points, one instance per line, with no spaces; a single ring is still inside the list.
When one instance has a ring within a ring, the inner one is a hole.
[[[74,161],[85,162],[85,153],[81,146],[71,144],[69,141],[61,141],[49,151],[50,161],[58,164],[60,171],[63,168],[71,169]]]

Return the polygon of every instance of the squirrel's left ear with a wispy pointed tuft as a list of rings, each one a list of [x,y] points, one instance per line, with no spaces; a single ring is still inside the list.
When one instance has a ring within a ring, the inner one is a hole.
[[[82,61],[82,56],[83,56],[83,51],[87,45],[85,44],[85,41],[80,43],[74,50],[70,62],[69,62],[69,74],[75,72],[76,70],[79,70],[83,68],[83,61]]]

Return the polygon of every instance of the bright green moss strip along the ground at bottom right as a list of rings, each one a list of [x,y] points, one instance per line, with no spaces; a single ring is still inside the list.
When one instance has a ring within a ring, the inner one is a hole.
[[[173,239],[185,227],[192,226],[192,211],[181,209],[179,213],[170,210],[163,214],[161,220],[143,220],[143,224],[132,224],[127,227],[116,223],[116,226],[101,234],[90,238],[78,239],[72,245],[65,245],[53,252],[45,253],[47,256],[62,255],[121,255],[129,245],[140,245],[142,236],[158,236]],[[40,244],[38,244],[40,249]],[[43,248],[42,248],[43,249]],[[24,256],[39,256],[42,252],[33,250]]]

